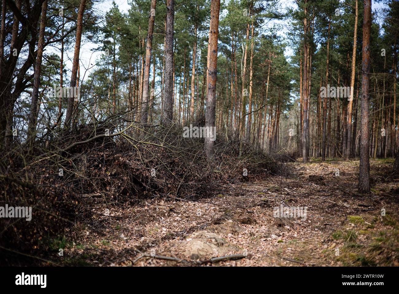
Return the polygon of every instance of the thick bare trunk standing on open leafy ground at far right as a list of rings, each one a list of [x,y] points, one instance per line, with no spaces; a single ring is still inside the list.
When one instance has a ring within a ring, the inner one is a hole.
[[[363,0],[363,48],[362,48],[362,83],[361,83],[361,120],[360,120],[360,164],[359,192],[370,192],[369,162],[369,88],[370,88],[370,31],[371,0]]]

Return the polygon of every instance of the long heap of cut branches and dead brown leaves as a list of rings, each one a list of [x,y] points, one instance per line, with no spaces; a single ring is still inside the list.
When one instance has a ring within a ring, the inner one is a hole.
[[[182,134],[177,125],[108,120],[41,138],[29,151],[14,148],[1,167],[1,199],[32,206],[33,216],[30,222],[0,219],[0,260],[8,248],[38,256],[43,238],[87,222],[95,206],[154,197],[193,200],[219,194],[229,183],[281,172],[273,158],[228,135],[217,136],[215,156],[207,160],[204,139]]]

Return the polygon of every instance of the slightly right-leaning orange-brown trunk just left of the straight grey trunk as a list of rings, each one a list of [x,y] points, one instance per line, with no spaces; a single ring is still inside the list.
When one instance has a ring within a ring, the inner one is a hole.
[[[147,44],[146,44],[146,61],[143,80],[143,105],[141,113],[141,123],[145,124],[148,117],[148,97],[150,88],[150,66],[152,53],[152,36],[154,33],[156,0],[151,0],[150,17],[148,20]]]

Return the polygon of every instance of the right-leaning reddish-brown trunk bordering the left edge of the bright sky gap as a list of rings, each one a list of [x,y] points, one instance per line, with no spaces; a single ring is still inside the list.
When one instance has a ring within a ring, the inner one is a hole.
[[[77,14],[75,52],[73,54],[71,83],[69,84],[70,87],[76,86],[77,66],[79,63],[80,42],[82,38],[82,28],[83,28],[83,13],[85,12],[86,2],[87,0],[81,0]],[[64,128],[69,128],[69,126],[71,125],[73,102],[74,102],[74,97],[72,95],[72,97],[68,97],[68,108],[67,108],[67,114],[65,116]]]

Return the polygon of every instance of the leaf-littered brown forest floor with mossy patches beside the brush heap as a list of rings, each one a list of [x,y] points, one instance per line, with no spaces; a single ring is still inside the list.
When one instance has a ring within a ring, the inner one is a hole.
[[[64,248],[63,256],[51,259],[64,265],[190,266],[244,254],[203,265],[399,266],[399,177],[392,163],[371,160],[368,195],[356,188],[358,161],[312,159],[285,163],[287,176],[227,184],[229,192],[210,198],[143,200],[111,208],[109,216],[100,207],[95,225],[68,232],[54,245]],[[306,220],[274,217],[280,205],[306,206]],[[142,253],[150,256],[138,258]]]

